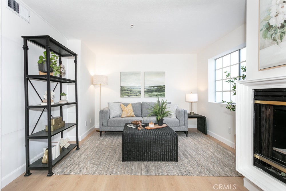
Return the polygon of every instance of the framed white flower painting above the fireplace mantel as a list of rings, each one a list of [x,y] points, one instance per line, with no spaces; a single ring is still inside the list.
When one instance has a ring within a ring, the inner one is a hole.
[[[259,1],[259,70],[286,66],[286,2]]]

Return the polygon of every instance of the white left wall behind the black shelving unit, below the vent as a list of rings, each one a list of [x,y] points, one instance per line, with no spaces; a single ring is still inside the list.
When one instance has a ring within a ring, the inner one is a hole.
[[[32,11],[30,16],[31,22],[28,23],[7,9],[5,1],[1,1],[1,188],[25,172],[24,64],[21,36],[50,35],[67,46],[67,38]],[[44,50],[32,44],[28,45],[29,74],[38,74],[36,63]],[[45,83],[33,80],[33,84],[42,96],[46,90],[43,85]],[[55,101],[59,100],[58,91]],[[39,104],[41,101],[31,86],[29,92],[30,104]],[[55,109],[54,113],[59,115],[59,109]],[[37,109],[30,112],[31,130],[38,117]],[[43,114],[36,131],[45,128],[46,117],[46,113]],[[39,153],[46,145],[46,139],[30,141],[31,162],[40,157]]]

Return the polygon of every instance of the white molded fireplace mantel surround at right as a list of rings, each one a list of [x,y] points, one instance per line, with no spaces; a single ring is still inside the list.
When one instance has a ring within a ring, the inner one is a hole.
[[[286,88],[286,76],[236,84],[236,170],[262,190],[286,190],[285,183],[253,166],[253,90],[265,88]]]

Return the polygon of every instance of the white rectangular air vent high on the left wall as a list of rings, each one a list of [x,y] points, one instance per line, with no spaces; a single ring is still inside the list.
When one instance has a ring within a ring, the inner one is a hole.
[[[6,7],[30,23],[30,10],[15,0],[6,0]]]

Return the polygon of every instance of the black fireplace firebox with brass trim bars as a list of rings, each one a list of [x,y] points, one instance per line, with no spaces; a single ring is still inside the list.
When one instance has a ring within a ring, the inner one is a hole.
[[[286,88],[254,90],[254,166],[286,183]]]

